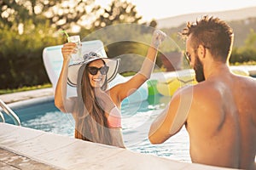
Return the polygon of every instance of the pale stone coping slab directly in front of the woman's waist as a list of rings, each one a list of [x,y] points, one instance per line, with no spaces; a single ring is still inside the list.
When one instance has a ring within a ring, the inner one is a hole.
[[[57,167],[71,169],[71,167],[76,164],[84,164],[86,167],[90,167],[93,164],[97,164],[99,161],[111,156],[116,156],[125,150],[79,139],[75,140],[76,142],[73,144],[69,144],[59,150],[38,155],[37,158]],[[83,168],[81,167],[81,169]]]

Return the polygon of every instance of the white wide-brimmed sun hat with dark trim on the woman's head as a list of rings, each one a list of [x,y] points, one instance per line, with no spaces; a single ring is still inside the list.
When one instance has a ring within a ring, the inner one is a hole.
[[[67,73],[67,83],[72,86],[76,87],[78,83],[78,75],[79,75],[79,68],[82,65],[88,65],[90,62],[96,60],[96,59],[102,59],[105,61],[106,65],[109,67],[108,73],[107,73],[107,80],[108,82],[111,82],[114,77],[116,77],[116,74],[119,69],[119,61],[120,59],[108,59],[100,56],[99,54],[96,54],[94,52],[90,52],[89,54],[84,54],[83,61],[80,61],[78,63],[74,63],[72,65],[68,66],[68,73]]]

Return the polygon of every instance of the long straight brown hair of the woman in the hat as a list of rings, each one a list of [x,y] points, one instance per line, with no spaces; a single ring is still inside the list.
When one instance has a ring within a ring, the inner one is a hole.
[[[77,86],[79,103],[75,138],[111,145],[113,144],[113,139],[108,128],[107,117],[105,116],[105,111],[102,110],[96,100],[94,88],[90,85],[89,72],[87,71],[88,65],[83,65],[79,69]],[[107,85],[106,77],[102,90],[106,90]]]

